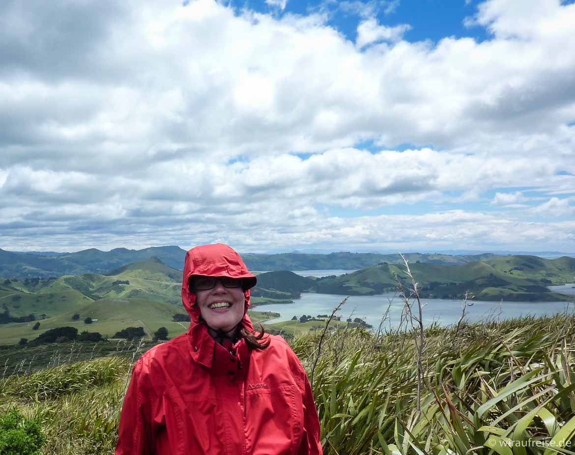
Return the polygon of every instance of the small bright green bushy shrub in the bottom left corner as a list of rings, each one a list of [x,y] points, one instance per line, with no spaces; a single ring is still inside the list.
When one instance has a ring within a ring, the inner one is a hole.
[[[0,415],[0,454],[39,455],[44,436],[37,420],[11,410]]]

